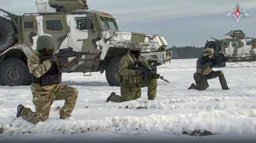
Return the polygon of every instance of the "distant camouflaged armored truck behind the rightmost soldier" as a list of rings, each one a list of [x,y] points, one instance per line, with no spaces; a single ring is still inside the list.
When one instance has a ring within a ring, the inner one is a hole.
[[[256,39],[246,37],[242,30],[231,30],[223,40],[211,38],[204,48],[213,48],[219,58],[214,67],[225,67],[226,62],[256,61]],[[228,60],[222,60],[225,58]]]

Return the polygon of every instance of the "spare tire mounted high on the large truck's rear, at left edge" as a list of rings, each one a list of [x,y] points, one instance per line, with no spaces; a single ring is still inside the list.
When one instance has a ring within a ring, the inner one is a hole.
[[[14,45],[16,31],[9,19],[0,17],[0,21],[0,51],[3,51]]]

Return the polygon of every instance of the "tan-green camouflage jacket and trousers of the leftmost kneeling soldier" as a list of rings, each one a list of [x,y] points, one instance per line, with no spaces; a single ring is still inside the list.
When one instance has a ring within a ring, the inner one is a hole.
[[[53,66],[51,59],[46,59],[40,62],[41,54],[35,50],[28,58],[27,64],[29,73],[39,78],[46,74],[46,72]],[[68,69],[70,71],[78,67],[80,57],[76,57],[66,66],[61,66],[57,63],[58,68]],[[33,94],[33,103],[36,111],[33,112],[29,108],[22,109],[21,117],[27,121],[37,124],[41,121],[46,121],[49,117],[51,105],[54,101],[65,100],[63,108],[60,110],[60,118],[68,118],[75,107],[78,91],[70,86],[61,84],[51,84],[41,86],[40,84],[31,84],[31,92]]]

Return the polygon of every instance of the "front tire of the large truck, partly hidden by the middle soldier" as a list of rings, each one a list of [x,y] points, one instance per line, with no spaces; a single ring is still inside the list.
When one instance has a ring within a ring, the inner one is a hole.
[[[122,57],[119,56],[110,61],[106,70],[106,78],[110,86],[120,86],[120,82],[116,79],[116,72],[119,70],[119,63]]]

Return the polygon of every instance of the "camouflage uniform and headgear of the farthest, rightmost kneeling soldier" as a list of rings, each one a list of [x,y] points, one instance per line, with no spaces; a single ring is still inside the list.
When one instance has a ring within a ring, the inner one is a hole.
[[[228,90],[228,84],[222,71],[213,71],[212,63],[208,56],[212,55],[214,50],[206,49],[203,56],[197,60],[196,73],[194,74],[195,84],[192,84],[189,89],[205,90],[209,87],[208,79],[219,77],[219,82],[223,90]]]

